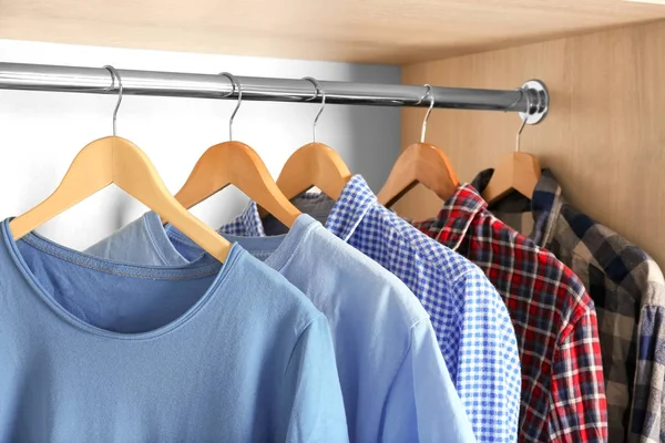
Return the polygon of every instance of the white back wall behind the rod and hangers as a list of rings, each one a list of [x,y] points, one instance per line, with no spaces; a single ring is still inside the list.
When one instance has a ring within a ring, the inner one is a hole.
[[[75,47],[0,40],[4,62],[114,65],[237,75],[399,83],[397,66],[259,59],[114,48]],[[115,96],[0,90],[0,217],[18,215],[47,197],[78,151],[112,131]],[[228,137],[234,101],[125,96],[117,134],[147,153],[175,193],[198,156]],[[318,104],[244,102],[234,123],[234,138],[254,147],[277,176],[289,154],[311,141]],[[399,152],[397,109],[326,106],[317,138],[338,150],[354,173],[375,190]],[[193,209],[213,227],[245,205],[237,189],[225,189]],[[39,231],[73,248],[83,248],[141,215],[145,208],[110,187],[63,213]]]

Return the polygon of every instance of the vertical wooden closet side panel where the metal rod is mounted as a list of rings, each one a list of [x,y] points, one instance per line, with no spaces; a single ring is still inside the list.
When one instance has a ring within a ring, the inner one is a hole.
[[[665,21],[403,68],[403,83],[518,87],[543,80],[548,117],[526,126],[521,147],[553,169],[584,213],[665,266]],[[424,89],[423,89],[424,92]],[[402,145],[418,140],[423,110],[406,109]],[[518,115],[434,110],[427,142],[471,181],[514,148]],[[395,206],[428,218],[441,202],[417,186]]]

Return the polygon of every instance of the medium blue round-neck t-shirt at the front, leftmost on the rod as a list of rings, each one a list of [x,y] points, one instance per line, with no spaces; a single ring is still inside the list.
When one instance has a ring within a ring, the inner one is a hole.
[[[0,442],[348,441],[326,318],[242,247],[142,267],[0,230]]]

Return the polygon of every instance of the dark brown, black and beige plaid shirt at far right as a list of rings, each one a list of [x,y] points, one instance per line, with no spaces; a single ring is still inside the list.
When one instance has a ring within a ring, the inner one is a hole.
[[[473,182],[482,192],[492,171]],[[580,277],[595,302],[610,442],[665,441],[665,284],[642,249],[573,208],[545,169],[532,199],[516,193],[490,210]],[[663,433],[663,434],[662,434]]]

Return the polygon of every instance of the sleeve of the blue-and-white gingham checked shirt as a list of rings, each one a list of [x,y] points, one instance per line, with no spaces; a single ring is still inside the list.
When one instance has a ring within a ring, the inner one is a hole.
[[[456,389],[479,442],[514,443],[522,372],[508,308],[480,269],[456,288],[456,297],[464,300],[459,330],[451,333],[459,340]]]

